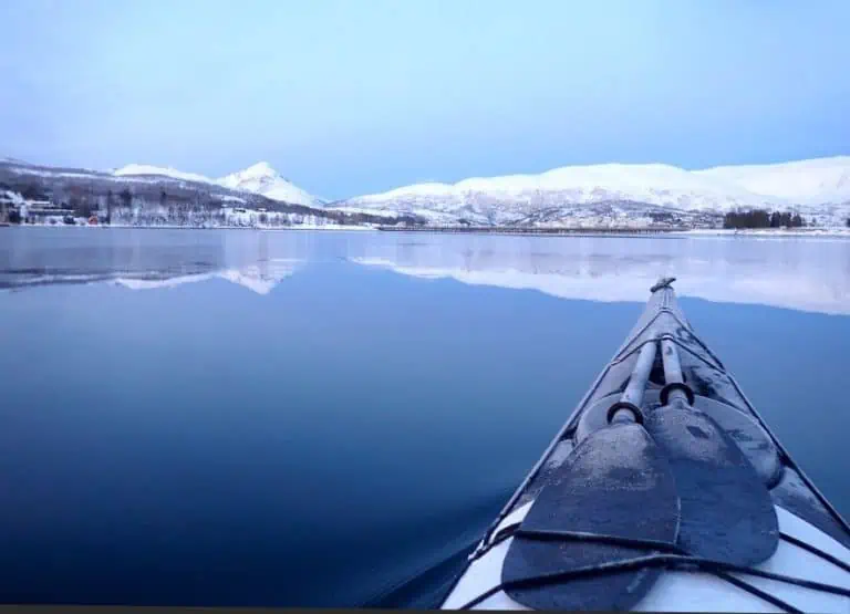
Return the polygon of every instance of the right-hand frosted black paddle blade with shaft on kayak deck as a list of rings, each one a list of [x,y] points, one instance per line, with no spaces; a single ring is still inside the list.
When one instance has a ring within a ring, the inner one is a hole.
[[[644,427],[666,457],[681,499],[678,545],[688,554],[754,565],[778,547],[779,527],[770,493],[740,448],[707,414],[694,409],[678,352],[661,342],[666,386],[662,407]]]

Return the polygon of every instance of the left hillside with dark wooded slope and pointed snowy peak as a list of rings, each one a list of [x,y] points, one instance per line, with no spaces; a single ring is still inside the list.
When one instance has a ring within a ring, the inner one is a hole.
[[[230,187],[232,186],[232,187]],[[356,227],[417,223],[400,216],[329,209],[281,178],[268,164],[224,177],[128,165],[108,171],[0,159],[0,198],[50,201],[75,218],[102,223],[188,227]],[[55,217],[55,216],[54,216]],[[48,222],[46,217],[39,221]]]

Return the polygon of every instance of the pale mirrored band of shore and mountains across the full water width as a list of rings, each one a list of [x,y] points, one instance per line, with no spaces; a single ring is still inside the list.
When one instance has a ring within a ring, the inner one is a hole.
[[[810,238],[493,237],[384,232],[6,229],[0,288],[112,281],[151,289],[221,278],[267,294],[308,262],[638,301],[661,275],[683,295],[850,314],[850,241]]]

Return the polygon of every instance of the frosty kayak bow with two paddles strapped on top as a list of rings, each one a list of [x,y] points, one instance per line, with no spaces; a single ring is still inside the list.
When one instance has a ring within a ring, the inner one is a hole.
[[[446,610],[850,612],[850,527],[680,308],[646,308]]]

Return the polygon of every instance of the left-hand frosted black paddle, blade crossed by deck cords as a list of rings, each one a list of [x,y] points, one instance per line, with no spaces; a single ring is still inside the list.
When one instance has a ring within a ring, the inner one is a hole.
[[[621,400],[609,412],[610,425],[579,444],[554,481],[538,495],[505,558],[504,583],[673,548],[676,485],[664,455],[640,424],[655,353],[654,342],[641,348]],[[638,569],[548,586],[508,587],[506,593],[536,610],[628,610],[660,573]]]

